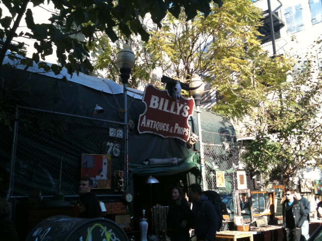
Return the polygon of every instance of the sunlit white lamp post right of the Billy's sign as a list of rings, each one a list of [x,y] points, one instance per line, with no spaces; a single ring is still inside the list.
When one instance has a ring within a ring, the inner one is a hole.
[[[197,87],[201,85],[199,88],[190,90],[190,94],[195,100],[195,104],[197,109],[197,122],[198,122],[198,133],[199,133],[199,146],[200,146],[200,164],[201,164],[201,175],[202,175],[202,189],[207,189],[206,184],[206,172],[205,172],[205,160],[204,160],[204,152],[203,152],[203,143],[202,143],[202,134],[201,134],[201,122],[200,122],[200,101],[201,95],[205,89],[205,85],[202,82],[200,76],[198,74],[194,74],[190,80],[189,87]]]

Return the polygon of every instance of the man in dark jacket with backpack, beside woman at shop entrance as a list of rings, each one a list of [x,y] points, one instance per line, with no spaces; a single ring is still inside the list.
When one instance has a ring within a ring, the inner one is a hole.
[[[202,194],[201,186],[197,183],[188,187],[188,196],[193,203],[194,229],[197,241],[216,240],[218,229],[218,214],[208,197]]]

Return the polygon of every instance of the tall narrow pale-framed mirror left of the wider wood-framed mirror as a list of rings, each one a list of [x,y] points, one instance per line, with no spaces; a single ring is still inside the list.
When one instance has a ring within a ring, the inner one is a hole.
[[[244,223],[254,220],[253,204],[250,189],[238,189],[235,192],[237,214],[243,216]]]

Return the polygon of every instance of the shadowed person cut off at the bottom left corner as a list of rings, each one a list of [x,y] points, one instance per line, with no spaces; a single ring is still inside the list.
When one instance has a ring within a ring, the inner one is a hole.
[[[0,199],[0,240],[19,241],[14,222],[10,218],[11,208],[8,201]]]

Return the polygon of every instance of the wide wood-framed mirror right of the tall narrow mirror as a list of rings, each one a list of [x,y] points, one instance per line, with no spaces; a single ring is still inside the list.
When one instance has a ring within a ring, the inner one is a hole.
[[[253,216],[271,214],[271,204],[273,202],[272,193],[268,192],[251,192]]]

